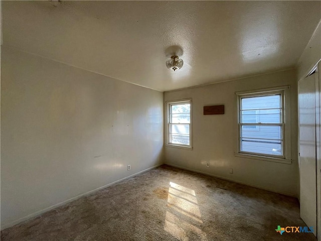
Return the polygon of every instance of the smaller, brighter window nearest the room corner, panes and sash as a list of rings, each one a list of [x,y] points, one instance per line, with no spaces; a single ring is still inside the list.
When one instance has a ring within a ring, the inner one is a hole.
[[[168,144],[192,147],[191,100],[168,102]]]

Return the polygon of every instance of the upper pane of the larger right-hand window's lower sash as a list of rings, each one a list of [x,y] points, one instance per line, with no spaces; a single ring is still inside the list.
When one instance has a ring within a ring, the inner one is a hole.
[[[241,125],[241,138],[282,139],[280,126]]]

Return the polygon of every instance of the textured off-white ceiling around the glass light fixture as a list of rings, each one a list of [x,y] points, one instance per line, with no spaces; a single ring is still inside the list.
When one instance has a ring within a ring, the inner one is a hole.
[[[321,19],[320,1],[2,2],[5,46],[159,91],[292,68]]]

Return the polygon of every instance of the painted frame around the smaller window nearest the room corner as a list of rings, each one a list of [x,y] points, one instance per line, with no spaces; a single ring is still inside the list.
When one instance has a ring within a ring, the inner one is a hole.
[[[171,105],[176,105],[176,104],[184,104],[184,103],[189,103],[190,104],[190,145],[183,145],[183,144],[173,144],[170,143],[170,112],[171,112]],[[166,146],[168,147],[176,147],[176,148],[183,148],[183,149],[189,149],[192,150],[192,98],[188,99],[181,99],[181,100],[174,100],[174,101],[166,101],[167,105],[167,125],[166,125]]]

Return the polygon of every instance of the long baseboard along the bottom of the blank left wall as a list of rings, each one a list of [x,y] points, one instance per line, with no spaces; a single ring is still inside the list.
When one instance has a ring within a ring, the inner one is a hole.
[[[91,191],[89,191],[89,192],[85,192],[85,193],[80,194],[80,195],[78,195],[78,196],[75,196],[75,197],[72,197],[72,198],[70,198],[70,199],[67,199],[66,201],[57,203],[57,204],[52,205],[52,206],[50,206],[50,207],[46,207],[45,209],[42,209],[42,210],[39,210],[39,211],[37,211],[37,212],[31,213],[31,214],[29,214],[29,215],[27,215],[27,216],[25,216],[25,217],[21,217],[21,218],[15,220],[15,221],[6,223],[6,224],[4,224],[4,225],[1,226],[1,230],[4,230],[4,229],[6,229],[6,228],[8,228],[8,227],[12,227],[12,226],[17,225],[17,224],[19,224],[19,223],[21,223],[21,222],[27,221],[28,219],[37,217],[37,216],[39,216],[39,215],[41,215],[41,214],[43,214],[43,213],[45,213],[45,212],[48,212],[48,211],[50,211],[50,210],[52,210],[52,209],[55,209],[55,208],[57,208],[57,207],[60,207],[60,206],[62,206],[62,205],[65,205],[65,204],[67,204],[67,203],[69,203],[69,202],[72,202],[72,201],[78,199],[78,198],[85,197],[85,196],[89,196],[90,194],[93,194],[93,193],[95,193],[95,192],[97,192],[97,191],[99,191],[99,190],[101,190],[101,189],[104,189],[104,188],[106,188],[106,187],[110,187],[110,186],[115,185],[115,184],[117,184],[117,183],[119,183],[119,182],[122,182],[122,181],[124,181],[124,180],[126,180],[126,179],[129,179],[129,178],[131,178],[131,177],[137,176],[137,175],[139,175],[139,174],[141,174],[141,173],[147,172],[147,171],[149,171],[149,170],[151,170],[151,169],[157,168],[157,167],[162,166],[162,165],[164,165],[164,163],[157,164],[157,165],[155,165],[155,166],[149,167],[149,168],[147,168],[147,169],[145,169],[145,170],[142,170],[142,171],[140,171],[140,172],[137,172],[137,173],[135,173],[135,174],[132,174],[132,175],[130,175],[130,176],[128,176],[128,177],[124,177],[124,178],[119,179],[119,180],[117,180],[117,181],[108,183],[108,184],[106,184],[106,185],[104,185],[104,186],[102,186],[102,187],[98,187],[98,188],[93,189],[93,190],[91,190]]]

